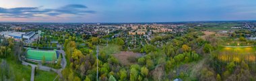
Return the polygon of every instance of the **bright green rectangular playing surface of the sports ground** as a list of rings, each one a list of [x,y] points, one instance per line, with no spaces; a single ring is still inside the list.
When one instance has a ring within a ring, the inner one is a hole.
[[[42,51],[42,50],[28,50],[26,58],[32,60],[42,60],[45,57],[46,61],[53,61],[53,58],[57,60],[56,51]]]

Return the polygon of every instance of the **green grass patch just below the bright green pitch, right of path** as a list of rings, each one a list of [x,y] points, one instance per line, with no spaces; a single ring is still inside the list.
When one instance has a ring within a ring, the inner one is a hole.
[[[53,81],[58,74],[55,72],[46,72],[42,70],[36,70],[36,75],[34,76],[35,81]],[[59,76],[58,76],[59,77]],[[59,81],[57,78],[55,81]]]

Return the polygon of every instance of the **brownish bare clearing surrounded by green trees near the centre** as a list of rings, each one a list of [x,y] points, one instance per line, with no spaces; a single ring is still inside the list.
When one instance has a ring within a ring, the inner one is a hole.
[[[131,62],[129,62],[129,58],[138,58],[140,56],[143,56],[142,54],[139,53],[134,53],[134,52],[120,52],[118,54],[114,54],[115,58],[117,58],[119,60],[119,62],[121,62],[122,65],[130,65],[133,64]]]

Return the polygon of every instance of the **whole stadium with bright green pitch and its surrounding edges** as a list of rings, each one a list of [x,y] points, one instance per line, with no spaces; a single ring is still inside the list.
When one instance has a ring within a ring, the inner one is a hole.
[[[42,63],[43,57],[44,63],[57,63],[59,53],[56,50],[32,50],[28,49],[25,60],[29,62]]]

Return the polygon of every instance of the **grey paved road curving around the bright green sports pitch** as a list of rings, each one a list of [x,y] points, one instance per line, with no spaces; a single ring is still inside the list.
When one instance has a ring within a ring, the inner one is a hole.
[[[48,72],[53,70],[53,72],[56,72],[62,78],[61,71],[67,66],[67,61],[66,61],[66,58],[65,58],[65,52],[63,50],[57,50],[57,51],[60,54],[62,54],[61,68],[60,69],[55,69],[55,68],[51,68],[51,67],[48,67],[48,66],[42,66],[42,65],[39,65],[38,67],[39,67],[39,70],[44,70],[44,71],[48,71]],[[37,67],[37,65],[30,64],[30,63],[25,62],[25,61],[22,61],[22,64],[25,65],[25,66],[30,65],[32,67],[30,81],[34,81],[34,69]]]

